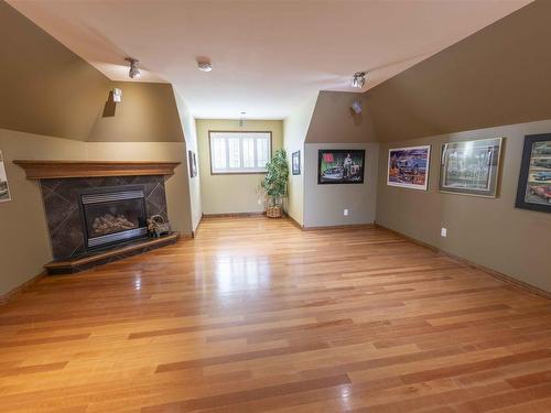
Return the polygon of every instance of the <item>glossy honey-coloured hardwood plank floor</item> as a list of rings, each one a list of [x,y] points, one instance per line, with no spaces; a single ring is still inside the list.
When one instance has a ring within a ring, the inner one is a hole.
[[[551,412],[550,304],[382,229],[212,218],[0,307],[0,412]]]

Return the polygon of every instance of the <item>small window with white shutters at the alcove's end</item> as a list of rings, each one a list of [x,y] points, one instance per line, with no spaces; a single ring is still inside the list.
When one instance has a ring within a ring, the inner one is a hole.
[[[212,174],[266,173],[271,132],[209,132]]]

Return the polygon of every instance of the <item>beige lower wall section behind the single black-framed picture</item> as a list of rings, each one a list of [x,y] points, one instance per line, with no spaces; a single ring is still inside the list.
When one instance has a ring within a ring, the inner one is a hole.
[[[365,149],[363,184],[318,185],[317,151]],[[306,143],[304,160],[304,227],[371,224],[377,205],[378,143]],[[348,216],[343,210],[348,209]]]

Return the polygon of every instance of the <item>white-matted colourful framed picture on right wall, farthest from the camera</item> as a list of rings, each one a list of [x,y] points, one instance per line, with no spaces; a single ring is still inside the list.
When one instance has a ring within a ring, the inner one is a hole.
[[[387,185],[426,191],[430,162],[431,145],[390,149]]]

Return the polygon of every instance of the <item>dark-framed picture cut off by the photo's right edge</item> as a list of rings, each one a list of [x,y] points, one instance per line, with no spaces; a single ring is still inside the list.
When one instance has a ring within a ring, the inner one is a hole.
[[[551,213],[551,133],[525,138],[515,206]]]

